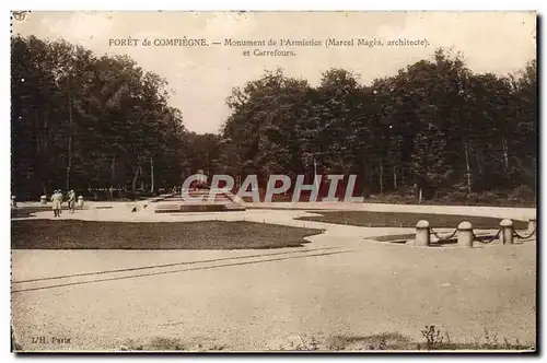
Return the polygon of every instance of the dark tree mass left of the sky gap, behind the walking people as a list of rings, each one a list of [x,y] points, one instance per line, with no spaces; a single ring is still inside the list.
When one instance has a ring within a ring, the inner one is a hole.
[[[65,40],[11,39],[12,194],[62,188],[109,198],[181,184],[196,134],[167,82],[127,56]],[[184,161],[184,163],[182,162]]]

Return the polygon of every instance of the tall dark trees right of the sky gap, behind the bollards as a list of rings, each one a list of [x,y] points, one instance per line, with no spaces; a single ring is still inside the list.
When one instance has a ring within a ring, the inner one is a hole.
[[[240,179],[356,174],[364,197],[516,188],[533,198],[536,78],[535,60],[517,74],[477,74],[444,49],[368,85],[344,69],[316,87],[267,72],[228,98],[221,164]]]

